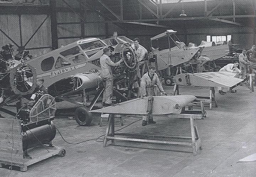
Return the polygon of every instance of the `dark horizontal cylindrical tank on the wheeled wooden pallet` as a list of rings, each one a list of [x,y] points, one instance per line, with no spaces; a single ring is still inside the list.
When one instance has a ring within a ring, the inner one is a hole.
[[[53,122],[51,124],[35,127],[22,132],[23,150],[35,147],[39,144],[47,144],[52,141],[56,135],[56,128]],[[40,142],[41,143],[40,143]]]

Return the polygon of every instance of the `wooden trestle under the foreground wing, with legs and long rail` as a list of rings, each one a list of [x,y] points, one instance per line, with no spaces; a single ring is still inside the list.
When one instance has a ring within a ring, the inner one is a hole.
[[[114,143],[114,140],[122,140],[122,141],[135,141],[135,142],[149,142],[149,143],[160,143],[160,144],[175,144],[175,145],[187,145],[191,146],[193,149],[193,155],[197,154],[197,150],[202,150],[201,139],[199,138],[198,129],[195,124],[194,119],[202,119],[202,115],[197,114],[169,114],[170,118],[185,118],[190,119],[190,127],[191,127],[191,137],[185,136],[159,136],[159,135],[141,135],[134,133],[115,133],[114,130],[114,114],[110,114],[110,121],[108,122],[108,126],[106,129],[106,135],[103,141],[103,147],[107,146],[108,141]],[[125,136],[125,137],[122,137]],[[140,138],[132,138],[133,136]],[[148,137],[148,139],[146,138]],[[151,138],[151,139],[149,139]],[[152,139],[155,138],[155,139]],[[181,141],[167,141],[162,140],[165,139],[179,139],[179,140],[190,140],[191,142],[181,142]]]

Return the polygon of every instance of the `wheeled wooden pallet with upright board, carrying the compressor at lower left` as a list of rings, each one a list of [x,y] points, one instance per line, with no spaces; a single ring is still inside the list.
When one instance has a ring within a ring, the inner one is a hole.
[[[27,171],[27,166],[42,161],[54,155],[65,156],[63,147],[38,145],[23,154],[21,120],[0,118],[0,167],[14,165],[21,171]]]

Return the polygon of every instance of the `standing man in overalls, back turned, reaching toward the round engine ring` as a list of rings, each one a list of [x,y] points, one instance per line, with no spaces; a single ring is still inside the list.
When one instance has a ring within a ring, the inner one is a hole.
[[[112,95],[113,95],[113,73],[111,67],[117,67],[123,61],[120,59],[118,62],[114,63],[111,61],[110,48],[106,47],[103,49],[103,55],[100,57],[101,64],[101,78],[103,79],[105,90],[103,92],[102,103],[105,106],[112,104]]]

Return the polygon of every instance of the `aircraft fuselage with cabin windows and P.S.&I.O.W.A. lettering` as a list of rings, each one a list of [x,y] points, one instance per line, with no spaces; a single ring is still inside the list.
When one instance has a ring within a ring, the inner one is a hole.
[[[89,61],[100,58],[106,46],[98,38],[81,39],[27,63],[36,69],[37,77],[44,79],[44,86],[49,87],[70,75],[86,73],[91,69],[100,70],[100,67]]]

